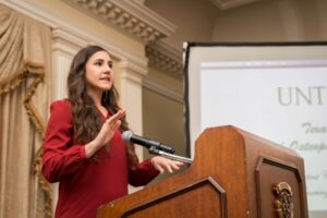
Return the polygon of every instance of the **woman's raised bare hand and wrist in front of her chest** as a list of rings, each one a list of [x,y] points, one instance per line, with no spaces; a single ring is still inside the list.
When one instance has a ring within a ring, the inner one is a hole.
[[[114,135],[114,132],[121,125],[120,119],[122,119],[124,116],[125,110],[119,110],[105,121],[96,138],[85,145],[85,156],[87,158],[92,157],[99,148],[110,142]]]

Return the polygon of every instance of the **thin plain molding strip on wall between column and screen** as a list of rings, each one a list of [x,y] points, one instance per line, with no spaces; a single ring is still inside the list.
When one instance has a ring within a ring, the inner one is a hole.
[[[175,100],[178,102],[181,102],[181,104],[184,102],[182,94],[174,92],[174,90],[168,88],[167,86],[160,85],[157,82],[154,82],[149,78],[143,80],[143,87],[145,87],[149,90],[153,90],[157,94],[164,95],[164,96],[166,96],[172,100]]]

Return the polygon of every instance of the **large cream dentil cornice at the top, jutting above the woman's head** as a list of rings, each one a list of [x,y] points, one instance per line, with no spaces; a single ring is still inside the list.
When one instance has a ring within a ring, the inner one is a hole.
[[[137,1],[62,0],[106,25],[118,26],[144,43],[170,36],[177,27]]]

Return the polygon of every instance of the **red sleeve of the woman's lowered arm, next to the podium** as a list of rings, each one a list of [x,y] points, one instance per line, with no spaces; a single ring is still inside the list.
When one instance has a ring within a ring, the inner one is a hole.
[[[149,183],[159,174],[150,161],[147,159],[138,165],[136,170],[130,170],[129,182],[133,186],[141,186]]]

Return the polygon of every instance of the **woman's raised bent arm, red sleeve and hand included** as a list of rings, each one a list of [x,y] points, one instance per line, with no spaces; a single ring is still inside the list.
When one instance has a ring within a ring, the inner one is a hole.
[[[44,142],[43,173],[49,182],[58,182],[62,177],[84,168],[87,158],[108,144],[120,126],[124,110],[118,111],[105,121],[96,138],[88,144],[73,144],[73,119],[68,100],[55,101],[50,107]]]

